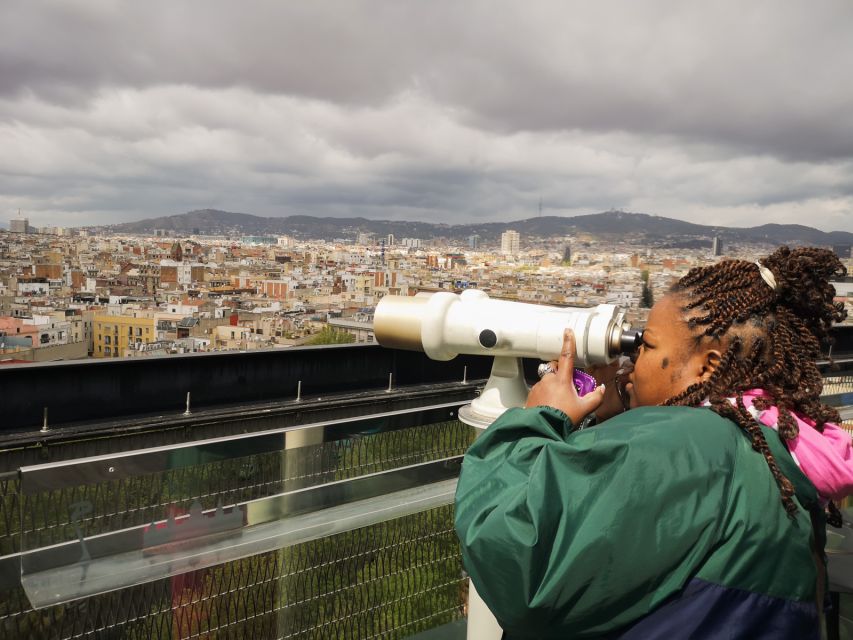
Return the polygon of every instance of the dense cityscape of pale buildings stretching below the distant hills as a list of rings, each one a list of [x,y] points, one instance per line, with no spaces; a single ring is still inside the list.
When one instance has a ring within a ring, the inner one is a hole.
[[[383,296],[467,288],[536,304],[617,304],[642,324],[655,295],[690,268],[770,250],[720,238],[672,248],[512,230],[464,244],[369,232],[129,235],[15,218],[0,231],[0,363],[372,342]],[[835,250],[853,267],[849,246]],[[853,311],[853,284],[838,282],[836,292]]]

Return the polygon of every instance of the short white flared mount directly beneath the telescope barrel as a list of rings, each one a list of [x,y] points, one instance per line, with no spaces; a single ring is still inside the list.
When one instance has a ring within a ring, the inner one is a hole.
[[[459,409],[459,419],[472,427],[485,429],[507,409],[523,407],[529,391],[521,358],[496,356],[482,393],[471,404]]]

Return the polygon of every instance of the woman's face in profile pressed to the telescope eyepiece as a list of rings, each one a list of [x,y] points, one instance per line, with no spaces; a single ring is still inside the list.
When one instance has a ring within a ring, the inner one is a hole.
[[[625,387],[632,408],[661,404],[702,380],[705,358],[700,349],[691,349],[694,342],[675,296],[655,304]]]

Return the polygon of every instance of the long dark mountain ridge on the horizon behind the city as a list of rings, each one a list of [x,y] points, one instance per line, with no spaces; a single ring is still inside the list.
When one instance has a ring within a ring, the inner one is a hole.
[[[232,213],[217,209],[200,209],[180,215],[149,218],[138,222],[111,225],[117,233],[147,233],[166,230],[173,234],[210,235],[291,235],[301,239],[354,239],[358,233],[374,233],[378,237],[394,234],[402,238],[430,239],[443,237],[465,240],[477,234],[484,242],[494,242],[507,229],[527,237],[560,237],[588,234],[598,237],[634,237],[654,244],[673,247],[696,246],[719,236],[723,242],[759,242],[770,245],[853,244],[853,233],[825,232],[803,225],[765,224],[760,227],[736,228],[693,224],[645,213],[606,211],[573,217],[541,216],[516,222],[486,222],[475,224],[433,224],[401,220],[368,220],[367,218],[315,218],[289,216],[263,218],[247,213]]]

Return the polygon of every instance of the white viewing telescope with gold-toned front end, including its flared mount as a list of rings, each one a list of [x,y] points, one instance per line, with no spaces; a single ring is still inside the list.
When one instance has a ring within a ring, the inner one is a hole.
[[[578,367],[611,362],[642,340],[642,333],[625,322],[625,312],[611,304],[525,304],[492,300],[477,289],[385,296],[373,318],[376,340],[384,347],[423,351],[433,360],[460,353],[495,356],[483,392],[459,410],[460,420],[481,429],[510,407],[524,405],[530,389],[521,358],[556,360],[565,329],[575,333]]]

